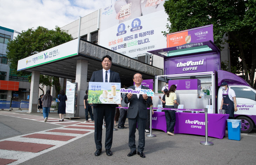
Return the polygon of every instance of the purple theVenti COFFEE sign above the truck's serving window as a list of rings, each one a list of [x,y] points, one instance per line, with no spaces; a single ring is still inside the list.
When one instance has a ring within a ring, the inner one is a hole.
[[[217,54],[211,56],[176,57],[164,61],[164,67],[167,68],[167,75],[214,71],[220,68],[220,58]]]

